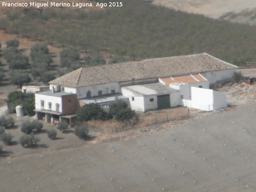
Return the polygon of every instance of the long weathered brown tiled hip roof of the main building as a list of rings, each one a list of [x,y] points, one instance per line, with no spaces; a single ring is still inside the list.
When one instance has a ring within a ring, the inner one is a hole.
[[[207,53],[82,67],[50,81],[70,87],[237,68]]]

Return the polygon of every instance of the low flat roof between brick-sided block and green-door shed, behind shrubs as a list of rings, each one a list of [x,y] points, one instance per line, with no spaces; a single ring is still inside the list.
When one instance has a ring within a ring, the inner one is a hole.
[[[123,96],[121,94],[108,95],[108,96],[99,96],[99,97],[91,97],[86,99],[79,99],[79,101],[89,104],[89,103],[105,103],[110,101],[115,101],[117,99],[128,99],[128,97]]]

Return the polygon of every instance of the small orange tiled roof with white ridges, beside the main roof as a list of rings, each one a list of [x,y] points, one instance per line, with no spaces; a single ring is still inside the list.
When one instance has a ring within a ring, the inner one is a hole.
[[[171,83],[194,83],[200,81],[207,81],[203,76],[200,74],[193,74],[193,75],[182,75],[182,76],[174,76],[174,77],[164,77],[160,78],[166,85]]]

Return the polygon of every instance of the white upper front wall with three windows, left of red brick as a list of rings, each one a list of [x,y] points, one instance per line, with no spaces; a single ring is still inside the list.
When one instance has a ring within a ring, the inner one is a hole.
[[[50,110],[48,103],[52,103],[52,111],[56,111],[56,103],[60,105],[59,112],[62,112],[61,97],[54,97],[48,95],[35,94],[36,109],[41,110],[41,100],[44,100],[44,110]]]

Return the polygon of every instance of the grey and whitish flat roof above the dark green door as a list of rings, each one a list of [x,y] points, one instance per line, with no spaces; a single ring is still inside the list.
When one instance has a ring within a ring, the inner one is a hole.
[[[167,94],[167,93],[179,91],[177,89],[173,89],[161,83],[132,85],[132,86],[126,86],[122,88],[128,89],[132,92],[136,92],[139,95],[155,95],[155,94],[165,94],[165,93]]]

